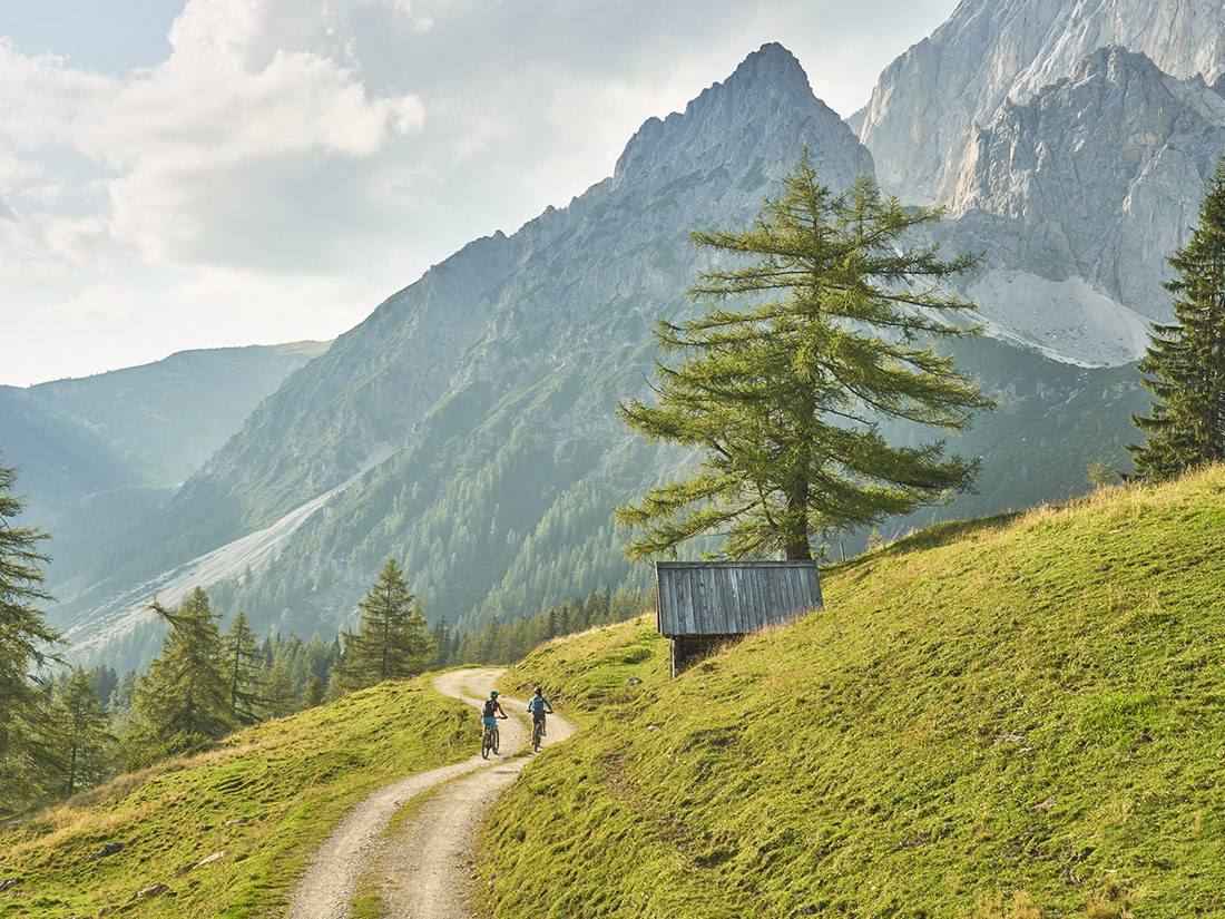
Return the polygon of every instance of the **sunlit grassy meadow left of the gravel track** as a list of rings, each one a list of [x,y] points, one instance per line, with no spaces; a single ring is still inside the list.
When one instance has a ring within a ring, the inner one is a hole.
[[[424,680],[261,724],[0,827],[0,883],[20,879],[0,917],[284,915],[295,876],[358,800],[470,756],[477,739],[470,709]],[[135,899],[154,885],[167,890]]]

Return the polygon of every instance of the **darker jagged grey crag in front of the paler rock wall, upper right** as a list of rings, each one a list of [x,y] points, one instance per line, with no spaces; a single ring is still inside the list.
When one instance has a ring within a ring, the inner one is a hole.
[[[1035,342],[1061,341],[1065,359],[1133,359],[1144,344],[1137,314],[1170,316],[1166,256],[1185,243],[1223,151],[1225,98],[1118,48],[1025,104],[1006,100],[974,126],[949,205],[948,238],[986,252],[985,314]],[[1020,287],[1029,276],[1063,284],[1067,297],[1039,309],[1002,283],[1009,274]],[[1083,284],[1065,283],[1074,279]]]

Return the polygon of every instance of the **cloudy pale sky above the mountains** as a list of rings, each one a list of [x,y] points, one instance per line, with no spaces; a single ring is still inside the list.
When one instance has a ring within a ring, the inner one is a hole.
[[[846,116],[956,0],[0,0],[0,385],[325,341],[779,42]]]

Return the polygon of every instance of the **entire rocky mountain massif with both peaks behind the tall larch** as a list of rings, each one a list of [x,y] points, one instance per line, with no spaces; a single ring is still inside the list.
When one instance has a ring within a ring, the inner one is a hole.
[[[1181,241],[1225,141],[1225,97],[1202,78],[1219,29],[1199,0],[1160,4],[1156,20],[1123,0],[1035,4],[963,4],[882,76],[888,112],[856,121],[870,145],[911,124],[899,113],[919,103],[894,85],[911,65],[946,81],[940,105],[978,113],[949,147],[938,238],[985,255],[965,286],[996,341],[959,344],[958,361],[1002,408],[951,445],[984,472],[980,494],[944,515],[1066,496],[1098,458],[1126,468],[1128,418],[1147,403],[1127,364],[1167,310],[1164,246]],[[1101,45],[1154,22],[1177,50]],[[995,98],[1018,87],[1033,94]],[[952,143],[937,124],[907,142],[924,156]],[[212,571],[218,604],[256,627],[332,633],[388,555],[451,625],[646,586],[610,511],[692,457],[628,436],[614,407],[649,392],[655,317],[688,309],[704,257],[688,233],[751,221],[805,147],[834,187],[872,172],[799,62],[766,45],[684,113],[647,121],[612,176],[469,244],[287,380],[163,512],[77,564],[58,624],[91,654],[120,641],[138,657],[147,637],[125,636],[148,596]],[[249,553],[241,539],[265,543]]]

